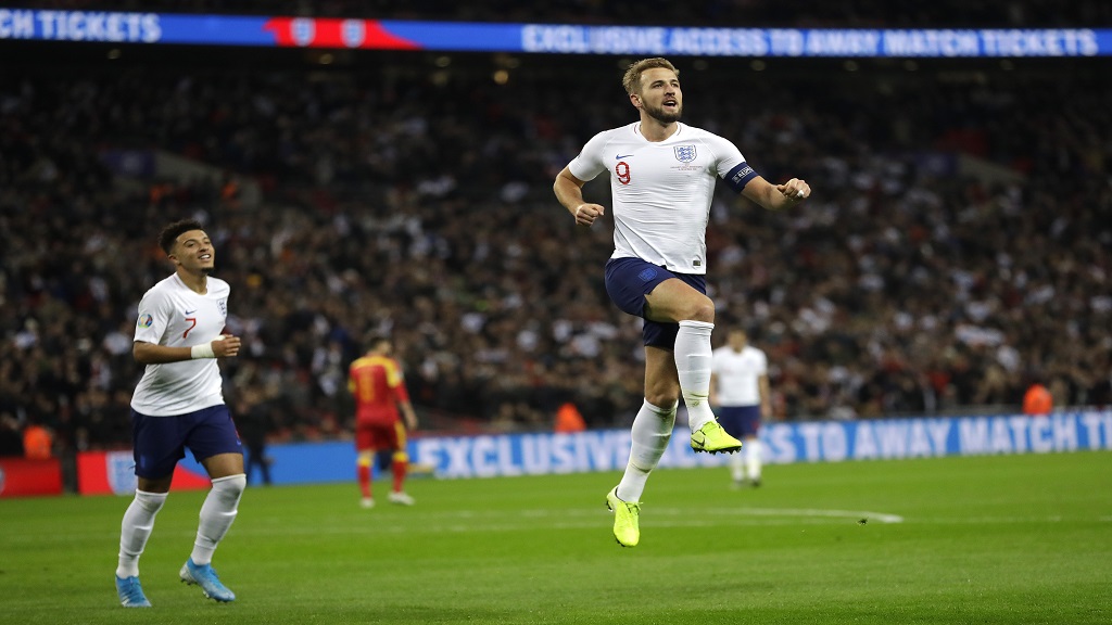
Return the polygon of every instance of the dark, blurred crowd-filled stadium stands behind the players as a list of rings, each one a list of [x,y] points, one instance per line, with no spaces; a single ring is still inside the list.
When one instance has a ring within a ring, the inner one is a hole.
[[[127,448],[155,237],[193,216],[234,288],[226,397],[272,443],[344,439],[348,363],[390,334],[425,433],[590,428],[641,404],[638,325],[609,305],[609,228],[552,196],[655,54],[18,39],[14,11],[158,11],[777,29],[1112,27],[1112,4],[24,2],[0,8],[0,429]],[[3,11],[9,11],[3,13]],[[4,19],[7,16],[7,19]],[[41,24],[40,24],[41,27]],[[685,118],[814,198],[727,191],[708,232],[723,329],[772,364],[777,418],[1112,405],[1112,72],[1098,54],[673,56]],[[588,192],[605,204],[605,183]]]

